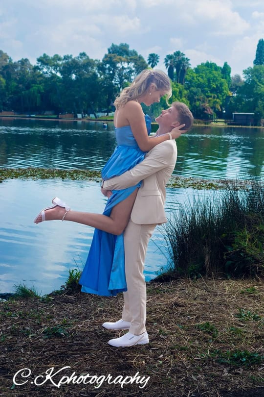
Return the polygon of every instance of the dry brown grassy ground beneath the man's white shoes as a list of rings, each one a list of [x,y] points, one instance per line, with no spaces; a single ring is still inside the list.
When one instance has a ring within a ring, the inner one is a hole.
[[[101,325],[120,318],[122,295],[65,294],[49,301],[1,302],[0,396],[217,397],[235,392],[242,396],[242,391],[251,396],[252,389],[255,397],[263,396],[262,280],[175,280],[147,288],[150,344],[126,349],[107,342],[127,331],[111,332]],[[150,379],[142,389],[135,383],[122,388],[104,382],[98,389],[83,382],[60,388],[51,381],[31,384],[49,368],[65,366],[70,367],[63,372],[68,376],[76,372],[114,378],[138,372]],[[22,368],[30,369],[31,377],[12,387],[15,372]]]

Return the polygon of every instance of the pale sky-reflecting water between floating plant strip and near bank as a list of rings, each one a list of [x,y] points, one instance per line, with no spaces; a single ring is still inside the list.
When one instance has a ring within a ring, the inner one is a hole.
[[[191,190],[190,190],[191,192]],[[182,202],[186,191],[168,189],[169,213]],[[99,184],[85,181],[9,180],[0,184],[0,292],[25,283],[42,294],[59,289],[68,270],[82,269],[93,228],[67,222],[34,224],[38,211],[58,196],[76,210],[102,213],[106,199]],[[167,264],[167,247],[160,227],[156,229],[146,258],[146,279]]]

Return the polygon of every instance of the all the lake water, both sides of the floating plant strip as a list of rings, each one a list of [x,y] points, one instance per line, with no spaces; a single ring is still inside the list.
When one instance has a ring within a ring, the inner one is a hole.
[[[101,170],[115,147],[113,125],[100,122],[0,120],[0,167]],[[197,178],[248,178],[264,175],[264,129],[194,127],[177,141],[174,174]],[[196,194],[167,189],[166,211]],[[199,194],[206,194],[199,192]],[[76,210],[102,212],[105,198],[89,181],[8,180],[0,184],[0,292],[20,283],[47,294],[59,289],[68,270],[82,269],[93,229],[33,223],[38,211],[58,196]],[[146,279],[166,266],[167,247],[156,229],[146,258]]]

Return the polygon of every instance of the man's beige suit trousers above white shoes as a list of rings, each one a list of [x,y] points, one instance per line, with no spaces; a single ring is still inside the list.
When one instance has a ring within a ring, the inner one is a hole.
[[[149,240],[156,224],[129,221],[124,231],[127,292],[124,292],[122,320],[131,322],[129,332],[140,335],[146,331],[146,282],[143,275]]]

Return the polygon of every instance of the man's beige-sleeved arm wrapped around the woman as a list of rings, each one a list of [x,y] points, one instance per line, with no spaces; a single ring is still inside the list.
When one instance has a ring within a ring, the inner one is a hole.
[[[142,179],[176,163],[177,149],[171,142],[163,142],[151,149],[145,159],[122,175],[104,181],[106,190],[121,190],[136,185]]]

